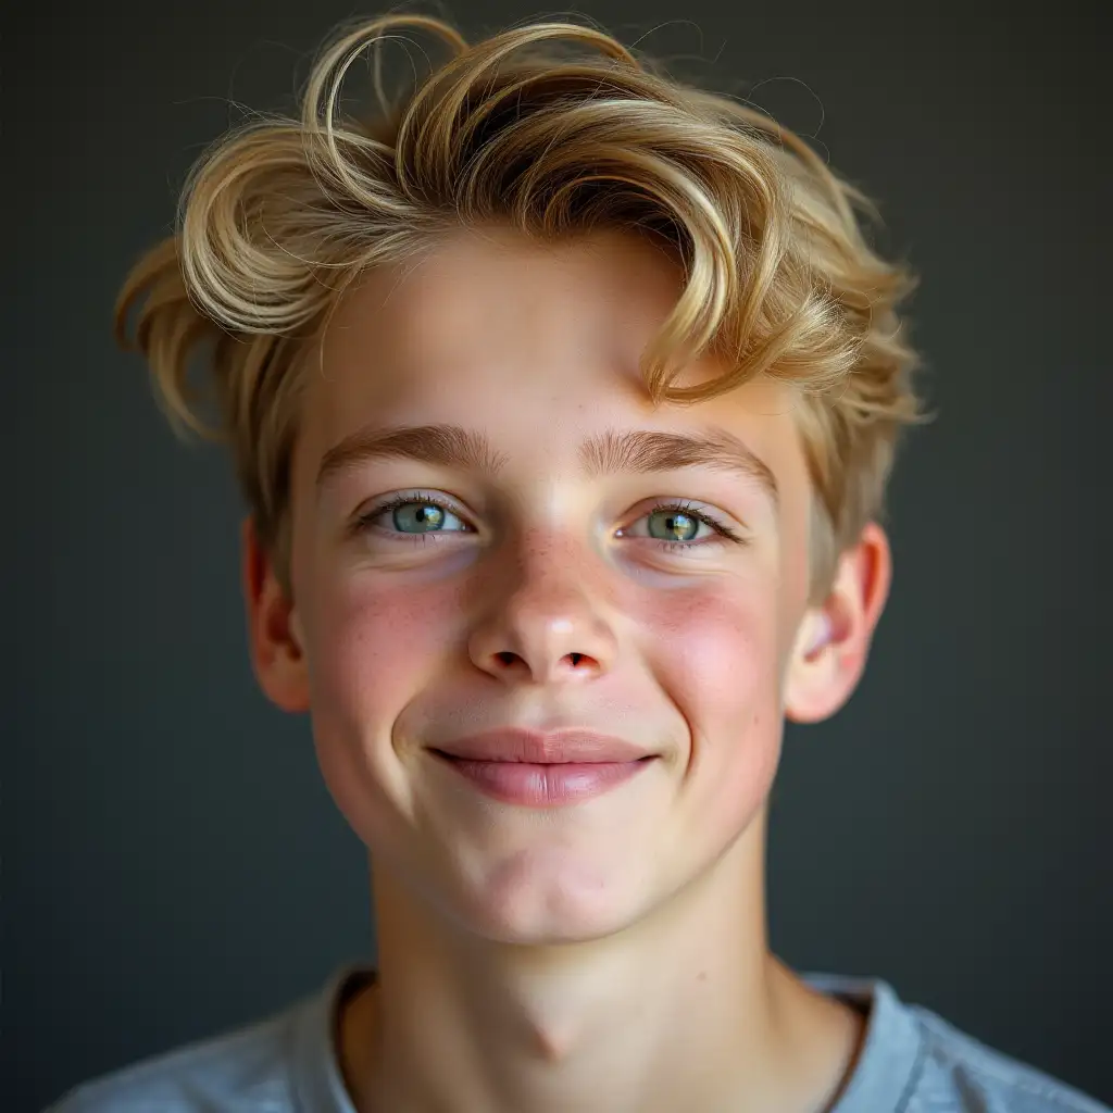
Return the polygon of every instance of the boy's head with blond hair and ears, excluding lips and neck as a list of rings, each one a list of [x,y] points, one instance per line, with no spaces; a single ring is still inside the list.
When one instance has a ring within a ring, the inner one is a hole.
[[[353,60],[400,31],[453,57],[339,118]],[[752,825],[784,717],[851,693],[917,420],[910,282],[860,201],[593,29],[469,47],[391,17],[324,55],[299,120],[206,156],[129,278],[119,327],[142,302],[195,429],[211,343],[263,687],[312,711],[353,827],[457,922],[637,918]],[[434,754],[510,726],[621,735],[652,768],[553,809],[554,838]]]

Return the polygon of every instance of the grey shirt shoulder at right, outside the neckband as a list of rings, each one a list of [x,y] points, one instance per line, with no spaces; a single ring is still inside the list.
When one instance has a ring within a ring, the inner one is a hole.
[[[908,1006],[922,1033],[920,1068],[908,1113],[1111,1113],[1109,1106],[1044,1072],[986,1046],[935,1013]]]

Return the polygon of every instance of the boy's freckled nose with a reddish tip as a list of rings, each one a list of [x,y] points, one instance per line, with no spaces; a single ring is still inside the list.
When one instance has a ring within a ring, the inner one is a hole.
[[[496,573],[487,589],[493,598],[469,638],[472,661],[516,683],[579,682],[605,674],[614,661],[614,630],[601,592],[589,584],[567,550],[520,556],[514,573]]]

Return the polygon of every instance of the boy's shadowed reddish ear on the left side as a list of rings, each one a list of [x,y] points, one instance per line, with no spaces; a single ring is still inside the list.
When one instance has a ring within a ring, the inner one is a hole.
[[[307,711],[308,669],[294,604],[259,544],[250,516],[240,528],[240,541],[247,641],[255,677],[267,698],[283,711]]]

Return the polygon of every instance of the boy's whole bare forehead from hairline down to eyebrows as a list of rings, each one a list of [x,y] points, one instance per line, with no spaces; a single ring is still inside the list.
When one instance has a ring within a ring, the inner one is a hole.
[[[652,405],[640,359],[681,280],[661,249],[624,233],[560,245],[499,229],[450,238],[345,296],[307,393],[306,447],[319,461],[364,427],[440,422],[483,431],[518,464],[560,470],[604,431],[717,429],[780,483],[800,464],[784,384]],[[678,384],[720,373],[701,361]]]

